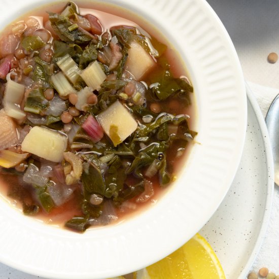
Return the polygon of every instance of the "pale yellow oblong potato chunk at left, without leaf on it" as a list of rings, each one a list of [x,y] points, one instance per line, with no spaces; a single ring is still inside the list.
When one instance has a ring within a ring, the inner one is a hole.
[[[46,127],[33,127],[25,136],[21,149],[52,162],[60,162],[67,148],[67,137]]]

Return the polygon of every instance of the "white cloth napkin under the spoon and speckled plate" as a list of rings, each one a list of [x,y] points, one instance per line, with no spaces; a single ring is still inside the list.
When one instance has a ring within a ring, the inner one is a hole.
[[[279,90],[251,82],[248,82],[248,85],[257,98],[263,116],[265,117],[272,100],[279,93]],[[259,254],[251,267],[251,271],[257,273],[261,267],[267,267],[269,272],[274,272],[276,275],[279,274],[279,187],[276,185],[274,186],[270,221]]]

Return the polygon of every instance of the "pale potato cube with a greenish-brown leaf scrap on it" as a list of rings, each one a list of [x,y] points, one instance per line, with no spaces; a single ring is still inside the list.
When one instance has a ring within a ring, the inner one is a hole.
[[[122,143],[137,128],[136,121],[120,101],[114,102],[96,118],[114,146]]]

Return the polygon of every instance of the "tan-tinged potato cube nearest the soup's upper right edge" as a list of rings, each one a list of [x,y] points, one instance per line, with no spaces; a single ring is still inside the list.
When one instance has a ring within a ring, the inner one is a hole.
[[[140,44],[131,43],[125,63],[126,71],[140,81],[155,65],[154,58]]]

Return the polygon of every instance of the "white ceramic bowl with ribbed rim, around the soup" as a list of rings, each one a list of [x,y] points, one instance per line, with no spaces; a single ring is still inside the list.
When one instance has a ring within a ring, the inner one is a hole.
[[[2,0],[0,27],[49,2]],[[231,40],[210,6],[203,0],[107,2],[150,21],[180,53],[195,89],[194,129],[200,144],[155,206],[118,225],[78,234],[25,217],[1,201],[0,261],[28,273],[105,278],[156,262],[210,219],[241,157],[247,121],[245,86]]]

